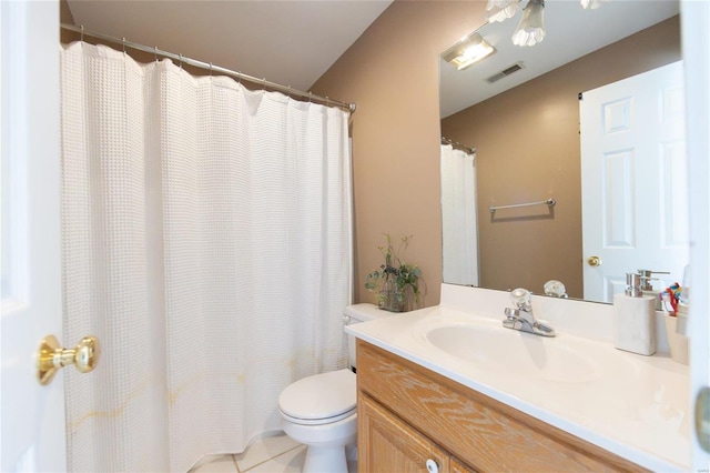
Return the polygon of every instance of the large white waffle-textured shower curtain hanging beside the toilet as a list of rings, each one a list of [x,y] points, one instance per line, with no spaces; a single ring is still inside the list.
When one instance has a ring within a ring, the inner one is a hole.
[[[346,363],[348,114],[169,60],[61,51],[71,471],[186,471],[280,429],[277,396]]]

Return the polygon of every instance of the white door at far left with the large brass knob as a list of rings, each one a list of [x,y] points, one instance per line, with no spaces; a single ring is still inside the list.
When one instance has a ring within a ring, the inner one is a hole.
[[[59,3],[0,1],[0,467],[65,471],[63,375],[41,386],[34,360],[62,334]]]

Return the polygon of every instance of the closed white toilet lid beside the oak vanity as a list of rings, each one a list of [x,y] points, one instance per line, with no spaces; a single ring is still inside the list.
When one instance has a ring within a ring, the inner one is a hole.
[[[278,396],[281,412],[303,421],[344,417],[356,405],[356,378],[348,369],[304,378]]]

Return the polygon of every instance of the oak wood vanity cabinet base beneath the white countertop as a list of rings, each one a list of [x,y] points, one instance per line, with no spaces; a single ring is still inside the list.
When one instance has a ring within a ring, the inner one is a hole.
[[[361,473],[646,471],[362,340],[357,429]]]

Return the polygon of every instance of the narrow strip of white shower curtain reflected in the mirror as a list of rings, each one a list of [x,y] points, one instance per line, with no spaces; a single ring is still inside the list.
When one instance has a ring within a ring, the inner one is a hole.
[[[444,281],[478,285],[476,154],[442,145]]]

